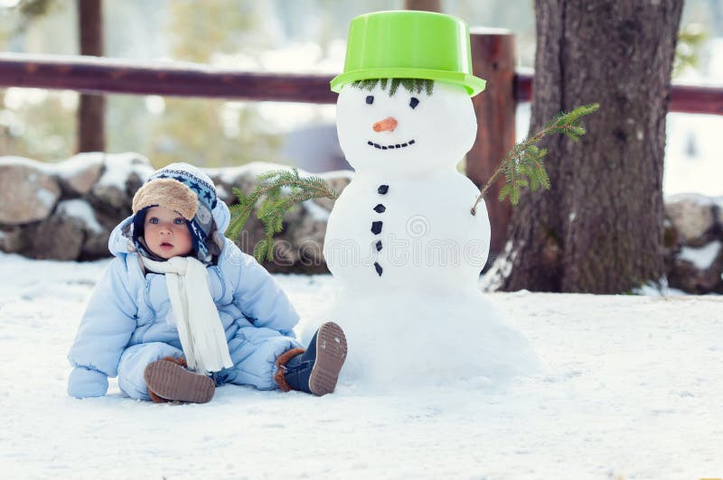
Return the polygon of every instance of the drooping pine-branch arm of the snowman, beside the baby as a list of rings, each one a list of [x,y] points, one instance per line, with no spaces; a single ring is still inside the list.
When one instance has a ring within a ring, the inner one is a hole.
[[[274,235],[284,229],[284,215],[287,211],[312,198],[335,200],[339,197],[328,181],[317,176],[301,178],[296,169],[267,171],[258,175],[257,183],[249,195],[239,189],[233,189],[233,193],[239,198],[239,203],[230,208],[231,220],[226,236],[234,242],[238,241],[254,206],[261,202],[257,217],[264,226],[266,236],[254,246],[254,257],[258,262],[274,260]]]

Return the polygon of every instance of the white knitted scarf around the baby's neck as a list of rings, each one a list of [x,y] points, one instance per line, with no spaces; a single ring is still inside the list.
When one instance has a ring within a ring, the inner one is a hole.
[[[165,262],[141,257],[146,268],[165,274],[165,285],[183,355],[188,367],[199,374],[233,366],[219,311],[209,291],[209,275],[203,263],[174,256]]]

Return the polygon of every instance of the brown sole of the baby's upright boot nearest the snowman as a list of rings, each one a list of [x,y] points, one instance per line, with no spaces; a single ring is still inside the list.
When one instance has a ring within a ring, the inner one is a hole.
[[[316,362],[309,375],[309,390],[318,396],[333,392],[346,360],[346,337],[341,327],[327,322],[316,335]]]

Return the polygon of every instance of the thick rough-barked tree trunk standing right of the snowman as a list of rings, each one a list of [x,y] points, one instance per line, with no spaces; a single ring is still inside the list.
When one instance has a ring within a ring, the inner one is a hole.
[[[525,192],[487,281],[617,293],[662,278],[665,115],[682,0],[537,0],[531,133],[598,102],[579,142],[556,135],[550,191]]]

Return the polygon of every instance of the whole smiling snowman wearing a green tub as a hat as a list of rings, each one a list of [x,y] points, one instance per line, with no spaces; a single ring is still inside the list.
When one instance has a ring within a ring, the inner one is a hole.
[[[474,143],[466,24],[380,12],[352,21],[337,131],[352,182],[336,200],[324,257],[343,325],[343,377],[378,386],[499,383],[530,373],[528,342],[479,290],[489,252],[480,190],[456,170]]]

